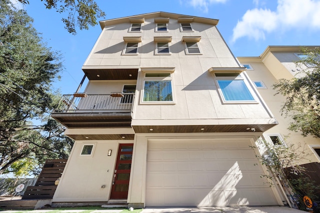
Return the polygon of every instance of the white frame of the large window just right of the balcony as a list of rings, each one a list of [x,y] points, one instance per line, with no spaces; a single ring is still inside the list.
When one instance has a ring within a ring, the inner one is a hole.
[[[164,73],[169,74],[169,76],[166,76],[166,77],[146,77],[147,74],[164,74]],[[171,101],[144,101],[145,81],[170,81],[172,100]],[[175,98],[174,98],[174,87],[173,87],[172,73],[170,73],[170,72],[145,72],[145,73],[143,73],[140,104],[175,104],[174,100],[175,100]]]

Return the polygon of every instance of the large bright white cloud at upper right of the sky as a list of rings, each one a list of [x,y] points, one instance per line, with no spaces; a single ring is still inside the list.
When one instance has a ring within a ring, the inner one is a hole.
[[[320,0],[278,0],[276,11],[249,9],[233,28],[231,41],[245,36],[255,40],[264,39],[265,33],[294,27],[320,29],[319,11]]]

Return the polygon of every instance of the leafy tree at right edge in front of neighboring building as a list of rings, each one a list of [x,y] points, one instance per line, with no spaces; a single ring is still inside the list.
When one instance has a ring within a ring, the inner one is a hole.
[[[301,51],[305,57],[296,62],[299,76],[280,79],[273,88],[285,96],[281,112],[292,118],[288,129],[320,138],[320,49]]]

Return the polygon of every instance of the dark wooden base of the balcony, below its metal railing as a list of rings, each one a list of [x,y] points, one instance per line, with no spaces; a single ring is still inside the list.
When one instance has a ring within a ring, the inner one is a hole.
[[[130,113],[52,113],[67,128],[130,127]]]

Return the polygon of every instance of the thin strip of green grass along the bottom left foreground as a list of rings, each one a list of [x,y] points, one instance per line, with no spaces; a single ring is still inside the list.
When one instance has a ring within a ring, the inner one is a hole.
[[[102,207],[95,207],[95,206],[87,206],[87,207],[60,207],[60,208],[45,208],[45,209],[40,209],[37,210],[37,212],[46,212],[46,211],[50,211],[49,213],[59,213],[62,211],[68,211],[70,210],[70,212],[72,212],[72,210],[84,210],[80,213],[91,213],[93,211],[96,210],[122,210],[120,213],[140,213],[142,211],[142,209],[136,209],[133,210],[133,212],[127,210],[127,209],[123,209],[123,208],[102,208]],[[32,212],[34,210],[8,210],[8,209],[0,209],[0,212],[2,211],[14,211],[14,213],[29,213]]]

